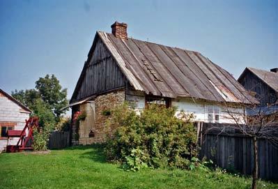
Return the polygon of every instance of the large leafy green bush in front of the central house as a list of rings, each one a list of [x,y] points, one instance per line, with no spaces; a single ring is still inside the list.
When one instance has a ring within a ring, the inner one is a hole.
[[[196,156],[193,115],[180,112],[177,118],[175,112],[176,108],[158,105],[149,105],[141,114],[128,105],[111,110],[107,158],[132,170],[145,165],[189,168],[190,159]]]

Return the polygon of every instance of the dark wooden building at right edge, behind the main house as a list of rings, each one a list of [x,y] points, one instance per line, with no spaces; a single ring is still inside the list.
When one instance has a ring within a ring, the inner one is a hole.
[[[270,114],[278,111],[278,68],[270,71],[245,68],[238,82],[260,102],[258,110]]]

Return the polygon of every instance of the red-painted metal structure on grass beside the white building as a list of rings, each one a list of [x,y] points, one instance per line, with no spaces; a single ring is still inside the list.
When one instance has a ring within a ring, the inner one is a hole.
[[[20,137],[16,145],[7,145],[7,152],[17,152],[24,150],[33,150],[33,147],[26,144],[33,141],[33,130],[38,129],[38,117],[31,117],[25,120],[26,124],[23,130],[8,130],[8,140],[10,137]]]

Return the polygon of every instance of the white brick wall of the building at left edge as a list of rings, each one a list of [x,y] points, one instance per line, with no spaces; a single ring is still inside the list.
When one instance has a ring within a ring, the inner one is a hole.
[[[0,95],[0,123],[14,122],[15,130],[23,130],[25,119],[29,119],[29,112],[25,112],[22,107],[17,105],[6,96]],[[19,138],[14,137],[9,140],[9,144],[16,144]],[[0,139],[0,152],[6,148],[7,139]]]

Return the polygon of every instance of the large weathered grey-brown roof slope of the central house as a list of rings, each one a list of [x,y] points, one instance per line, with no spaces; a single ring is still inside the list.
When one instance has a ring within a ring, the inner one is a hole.
[[[256,103],[230,73],[199,52],[142,40],[98,35],[134,89],[170,98],[192,97],[232,103]]]

